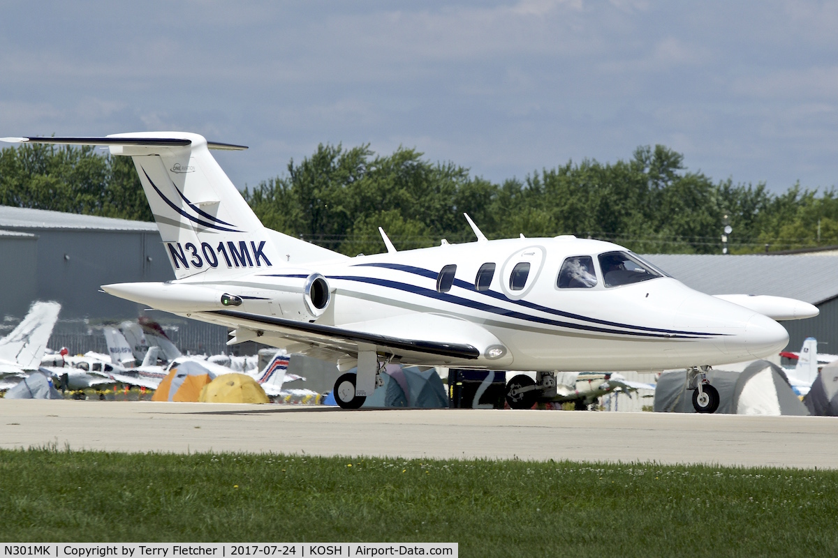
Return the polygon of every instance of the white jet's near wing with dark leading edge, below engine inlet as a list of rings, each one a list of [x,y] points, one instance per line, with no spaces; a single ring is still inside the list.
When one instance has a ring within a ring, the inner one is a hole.
[[[253,315],[235,310],[215,310],[208,312],[215,315],[220,322],[234,325],[237,328],[236,338],[241,340],[239,329],[258,330],[264,335],[277,336],[292,342],[320,346],[339,353],[354,354],[360,345],[375,346],[376,351],[389,352],[393,355],[433,355],[449,357],[453,360],[475,360],[481,351],[475,345],[484,345],[488,338],[497,342],[494,335],[489,334],[478,325],[462,320],[452,320],[444,316],[426,315],[410,317],[410,324],[401,316],[360,322],[349,327],[335,327],[295,320],[287,320],[274,316]],[[425,325],[416,322],[432,320],[437,327],[429,330]],[[473,342],[468,342],[468,330],[479,328],[473,335]],[[411,331],[433,331],[435,339],[413,338]],[[389,333],[385,333],[389,332]],[[466,335],[463,335],[466,332]],[[401,335],[400,335],[401,334]],[[245,340],[256,339],[251,335]],[[448,341],[446,339],[451,339]],[[481,342],[482,341],[482,342]],[[491,344],[491,343],[489,343]]]

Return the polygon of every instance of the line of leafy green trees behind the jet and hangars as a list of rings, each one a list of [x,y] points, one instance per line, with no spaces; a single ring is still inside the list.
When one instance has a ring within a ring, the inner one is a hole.
[[[269,228],[341,253],[379,253],[385,229],[396,248],[473,240],[463,212],[489,238],[575,234],[639,253],[763,253],[838,244],[838,192],[795,184],[714,182],[665,146],[628,160],[583,160],[500,183],[453,162],[400,148],[320,145],[287,171],[245,188]],[[152,220],[128,157],[91,147],[23,145],[0,151],[0,204]]]

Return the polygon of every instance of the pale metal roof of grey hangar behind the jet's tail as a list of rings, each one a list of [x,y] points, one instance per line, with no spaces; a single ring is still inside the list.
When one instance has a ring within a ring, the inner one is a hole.
[[[0,228],[90,229],[101,231],[157,231],[157,225],[94,215],[78,215],[28,207],[0,206]]]

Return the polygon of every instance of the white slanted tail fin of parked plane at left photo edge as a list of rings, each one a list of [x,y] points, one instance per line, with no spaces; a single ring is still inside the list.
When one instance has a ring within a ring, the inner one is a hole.
[[[24,370],[38,370],[61,305],[35,302],[12,333],[0,339],[0,361],[14,362]]]

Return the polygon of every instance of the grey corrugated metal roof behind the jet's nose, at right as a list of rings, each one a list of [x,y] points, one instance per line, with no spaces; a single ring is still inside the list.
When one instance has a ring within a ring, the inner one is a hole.
[[[707,294],[773,294],[816,305],[838,296],[838,257],[649,254],[681,283]]]

